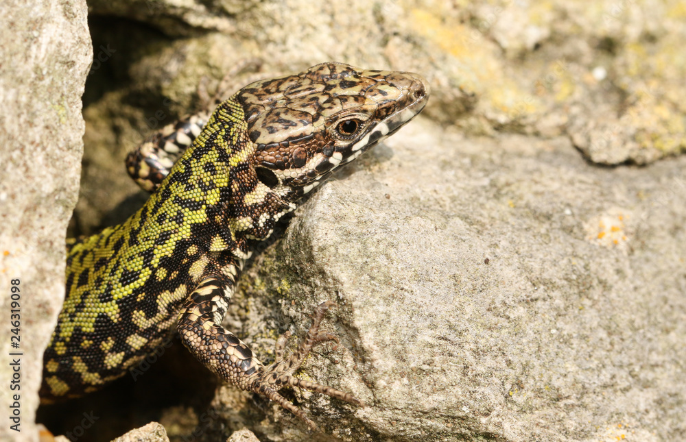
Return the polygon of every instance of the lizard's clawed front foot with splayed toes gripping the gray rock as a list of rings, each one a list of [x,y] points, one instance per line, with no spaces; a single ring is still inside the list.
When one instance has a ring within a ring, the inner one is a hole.
[[[308,419],[303,410],[300,410],[300,408],[286,400],[285,397],[278,393],[278,391],[284,386],[297,386],[300,389],[322,393],[330,397],[344,400],[350,404],[364,406],[364,402],[351,395],[351,393],[346,393],[327,385],[318,384],[316,382],[303,380],[293,376],[293,373],[300,368],[300,365],[303,365],[303,361],[305,358],[307,358],[307,355],[311,351],[312,347],[327,341],[336,341],[338,343],[338,338],[333,334],[319,331],[320,323],[322,322],[322,319],[324,319],[324,315],[326,314],[327,310],[331,308],[331,306],[335,306],[333,301],[322,302],[322,304],[317,306],[316,310],[314,311],[314,320],[312,322],[312,326],[307,332],[307,336],[305,336],[305,339],[300,342],[298,349],[296,349],[296,351],[288,358],[284,358],[284,351],[286,342],[290,336],[290,332],[285,332],[282,334],[276,341],[276,358],[274,363],[255,373],[255,380],[253,380],[250,384],[250,391],[253,391],[261,396],[268,397],[270,400],[281,405],[286,410],[289,410],[291,413],[305,421],[305,423],[307,423],[309,428],[312,430],[316,430],[316,423]]]

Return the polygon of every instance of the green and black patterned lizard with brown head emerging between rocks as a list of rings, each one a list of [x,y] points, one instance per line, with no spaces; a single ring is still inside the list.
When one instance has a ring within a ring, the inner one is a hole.
[[[323,302],[293,354],[274,363],[222,327],[251,247],[331,173],[424,108],[414,73],[327,62],[241,88],[214,112],[169,126],[127,160],[150,199],[99,234],[67,242],[66,290],[43,357],[41,402],[97,391],[178,332],[224,382],[316,424],[279,394],[296,386],[364,405],[351,393],[294,376],[314,345]]]

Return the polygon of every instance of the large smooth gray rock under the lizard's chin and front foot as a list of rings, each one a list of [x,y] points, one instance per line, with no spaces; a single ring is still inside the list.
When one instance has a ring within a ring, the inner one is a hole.
[[[599,169],[565,138],[464,138],[426,120],[388,145],[323,186],[251,275],[300,336],[312,306],[340,306],[340,345],[304,376],[368,406],[298,395],[325,432],[686,434],[684,158]],[[268,439],[306,437],[274,409]]]

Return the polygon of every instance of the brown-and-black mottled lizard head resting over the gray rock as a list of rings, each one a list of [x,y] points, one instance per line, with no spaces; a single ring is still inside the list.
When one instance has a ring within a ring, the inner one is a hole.
[[[322,63],[236,95],[258,179],[287,203],[396,132],[429,99],[420,75]]]

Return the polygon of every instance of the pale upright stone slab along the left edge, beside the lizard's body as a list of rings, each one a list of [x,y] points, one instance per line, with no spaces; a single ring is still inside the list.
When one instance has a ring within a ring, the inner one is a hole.
[[[0,404],[5,416],[15,394],[21,404],[21,432],[5,417],[0,439],[37,441],[43,349],[64,299],[64,232],[78,195],[91,40],[85,1],[3,2],[0,24]],[[16,279],[21,341],[10,349]],[[21,390],[9,388],[15,358]]]

